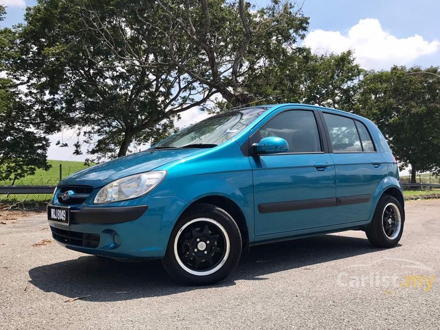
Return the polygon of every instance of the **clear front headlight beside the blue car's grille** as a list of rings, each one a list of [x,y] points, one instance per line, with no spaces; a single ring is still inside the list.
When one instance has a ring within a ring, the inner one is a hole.
[[[145,195],[161,183],[165,175],[166,171],[152,171],[115,180],[99,190],[93,203],[125,201]]]

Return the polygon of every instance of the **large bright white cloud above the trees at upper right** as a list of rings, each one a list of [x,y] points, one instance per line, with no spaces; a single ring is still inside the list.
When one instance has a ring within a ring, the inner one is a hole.
[[[420,56],[440,49],[438,40],[429,42],[417,34],[397,38],[384,31],[376,18],[359,20],[347,35],[339,31],[314,30],[305,37],[304,45],[315,53],[340,53],[351,49],[365,69],[388,69],[393,64],[411,65]]]

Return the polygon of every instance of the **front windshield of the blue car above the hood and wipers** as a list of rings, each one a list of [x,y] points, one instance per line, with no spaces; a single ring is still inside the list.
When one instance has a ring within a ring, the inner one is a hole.
[[[210,148],[232,139],[268,108],[247,108],[209,117],[182,129],[154,146]]]

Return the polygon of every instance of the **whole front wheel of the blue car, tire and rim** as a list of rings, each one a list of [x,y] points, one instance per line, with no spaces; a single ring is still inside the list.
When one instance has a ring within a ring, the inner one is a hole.
[[[212,284],[237,266],[241,235],[234,219],[211,204],[197,204],[185,212],[171,232],[162,263],[182,284]]]

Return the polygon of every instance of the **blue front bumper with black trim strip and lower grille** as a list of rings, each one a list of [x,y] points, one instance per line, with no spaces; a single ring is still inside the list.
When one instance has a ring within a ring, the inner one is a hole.
[[[175,222],[188,204],[177,196],[132,203],[83,207],[71,211],[66,226],[48,221],[52,237],[64,247],[113,258],[161,258]],[[147,206],[148,205],[148,206]]]

